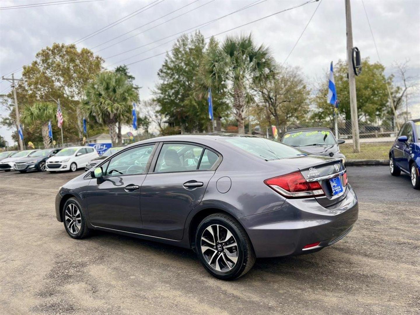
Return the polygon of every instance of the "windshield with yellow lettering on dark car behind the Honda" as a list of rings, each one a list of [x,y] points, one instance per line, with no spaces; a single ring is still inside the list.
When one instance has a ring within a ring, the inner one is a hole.
[[[336,144],[333,134],[327,130],[307,130],[285,134],[281,142],[293,147]]]

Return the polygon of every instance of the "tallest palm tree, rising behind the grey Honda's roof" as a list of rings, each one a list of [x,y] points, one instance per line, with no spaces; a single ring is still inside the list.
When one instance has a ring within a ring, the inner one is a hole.
[[[228,36],[223,44],[203,58],[199,79],[207,87],[225,83],[233,99],[239,133],[245,133],[246,105],[252,99],[251,87],[268,81],[276,74],[276,63],[264,45],[257,47],[249,36]]]

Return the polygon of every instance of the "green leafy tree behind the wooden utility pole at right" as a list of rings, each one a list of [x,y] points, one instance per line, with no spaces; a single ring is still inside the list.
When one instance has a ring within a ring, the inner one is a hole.
[[[386,84],[392,83],[392,76],[386,78],[385,67],[381,63],[370,63],[369,58],[362,60],[362,74],[356,77],[357,113],[359,120],[373,123],[382,119],[389,107]],[[334,81],[338,99],[339,114],[346,120],[351,120],[349,81],[347,79],[347,63],[339,60],[334,65]],[[315,120],[332,119],[333,107],[327,102],[328,79],[321,82],[313,101],[317,110],[312,115]]]

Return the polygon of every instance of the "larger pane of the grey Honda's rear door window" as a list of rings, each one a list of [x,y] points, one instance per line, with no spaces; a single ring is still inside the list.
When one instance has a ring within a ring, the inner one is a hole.
[[[194,144],[163,144],[155,167],[156,173],[188,172],[198,169],[203,148]]]

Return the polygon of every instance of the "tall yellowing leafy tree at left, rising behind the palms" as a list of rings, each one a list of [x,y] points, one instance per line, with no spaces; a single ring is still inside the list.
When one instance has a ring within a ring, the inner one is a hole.
[[[26,97],[24,104],[37,100],[60,99],[63,113],[67,110],[67,124],[73,125],[79,136],[83,136],[81,101],[85,86],[102,70],[103,59],[87,48],[77,50],[76,45],[54,43],[40,50],[35,60],[24,66],[23,83],[18,94]]]

